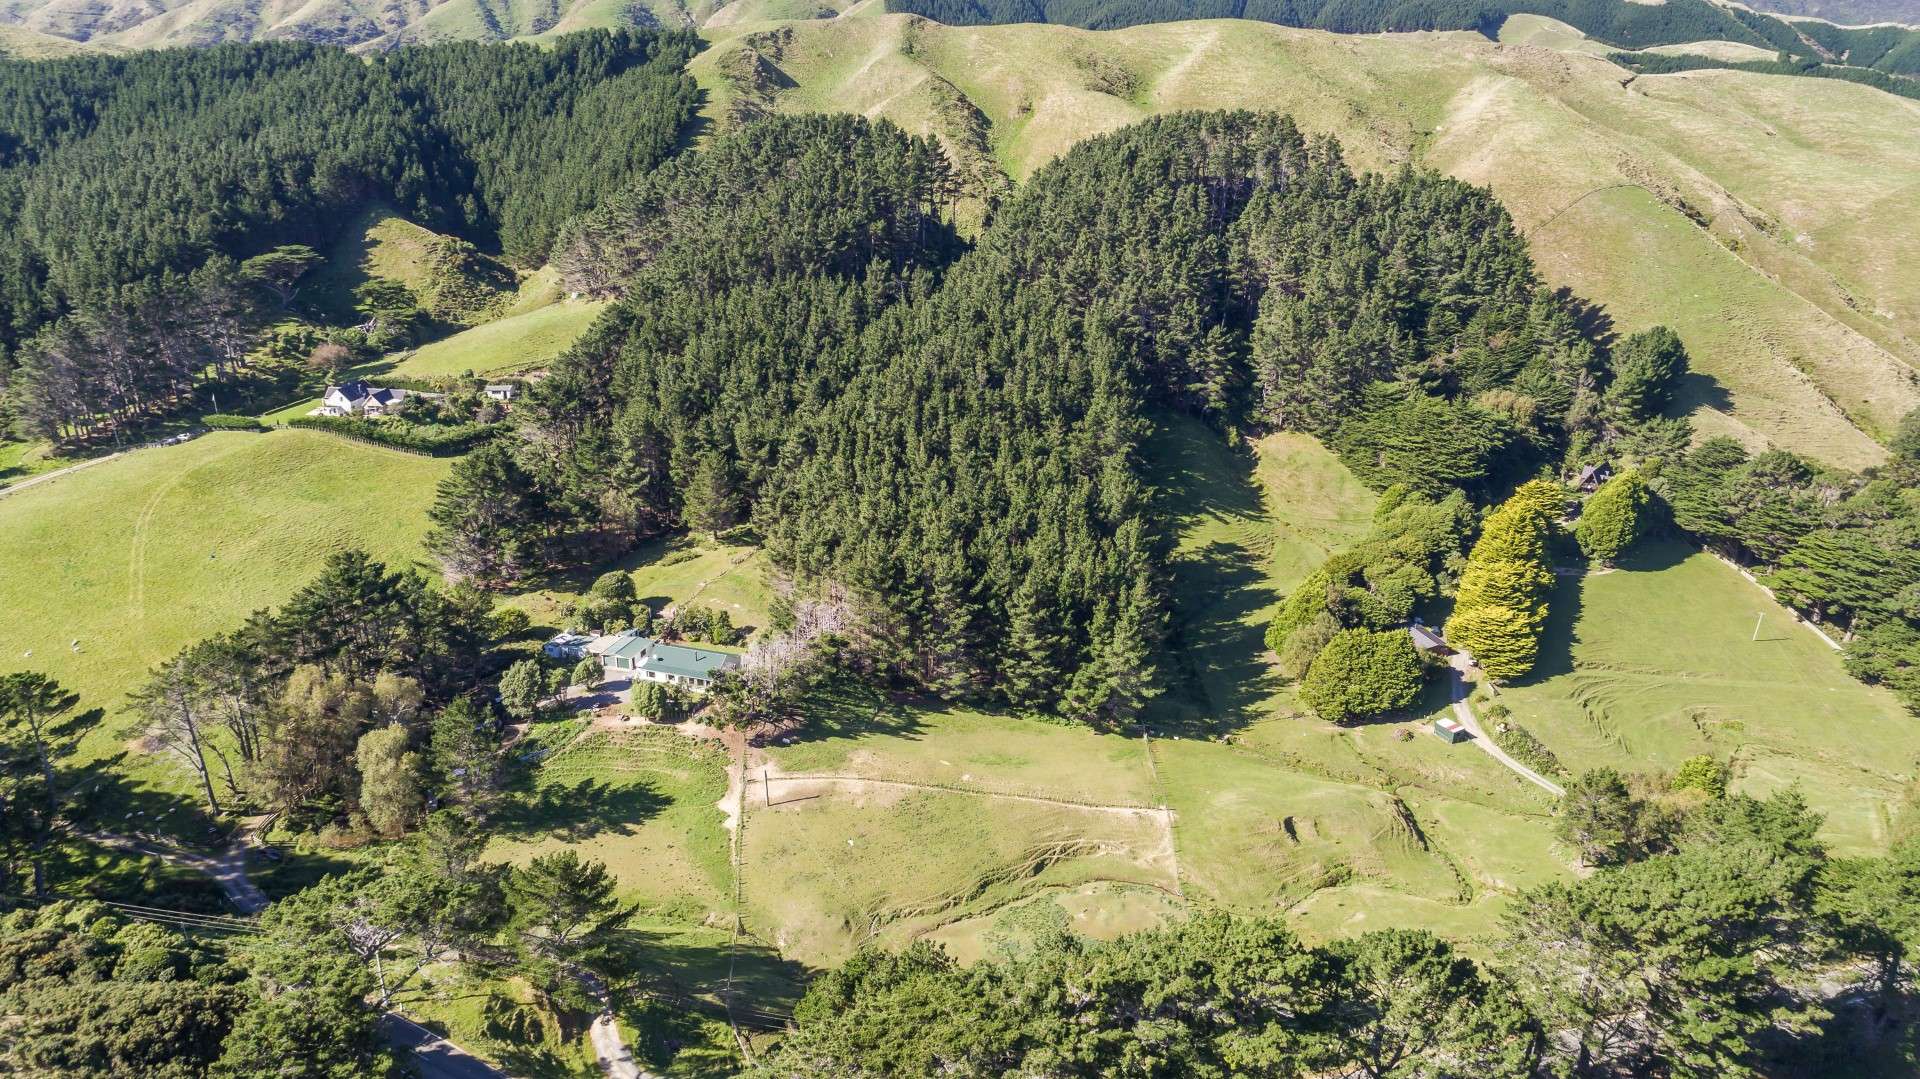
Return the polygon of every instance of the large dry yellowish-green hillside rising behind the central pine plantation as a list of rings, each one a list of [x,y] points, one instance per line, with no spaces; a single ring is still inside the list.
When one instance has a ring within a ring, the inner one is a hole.
[[[937,134],[975,175],[1190,108],[1292,113],[1363,167],[1490,184],[1542,271],[1620,332],[1672,324],[1701,430],[1839,465],[1920,405],[1920,102],[1736,71],[1632,77],[1548,21],[1340,36],[1248,21],[1116,33],[908,15],[714,27],[718,123],[847,109]],[[1555,36],[1557,35],[1557,36]],[[749,56],[751,52],[751,56]],[[747,106],[747,108],[743,108]]]

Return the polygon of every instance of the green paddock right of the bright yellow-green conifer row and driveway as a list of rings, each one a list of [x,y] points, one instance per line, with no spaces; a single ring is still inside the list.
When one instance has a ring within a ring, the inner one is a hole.
[[[1759,586],[1678,543],[1563,578],[1540,670],[1500,699],[1574,770],[1711,753],[1734,762],[1736,789],[1799,781],[1843,852],[1885,845],[1920,758],[1920,726],[1889,693],[1849,678]]]

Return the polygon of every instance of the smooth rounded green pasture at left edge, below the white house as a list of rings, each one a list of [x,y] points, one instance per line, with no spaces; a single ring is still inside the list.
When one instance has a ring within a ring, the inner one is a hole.
[[[46,672],[104,708],[81,758],[125,755],[119,770],[154,799],[125,808],[190,829],[186,774],[132,751],[125,695],[179,649],[286,599],[334,551],[422,559],[445,470],[317,432],[207,434],[0,497],[0,670]]]

